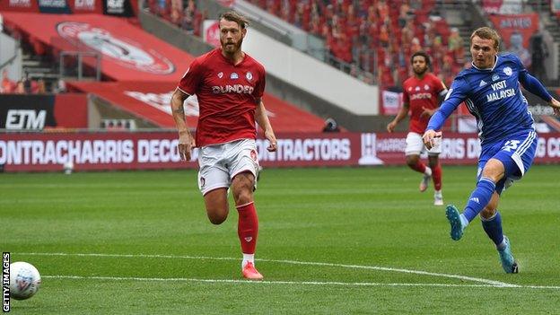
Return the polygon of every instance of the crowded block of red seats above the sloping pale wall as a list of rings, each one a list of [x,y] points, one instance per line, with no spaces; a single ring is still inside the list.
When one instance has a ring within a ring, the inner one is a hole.
[[[433,56],[433,72],[446,83],[464,64],[459,32],[436,13],[434,0],[250,2],[325,39],[335,57],[329,60],[375,74],[371,83],[400,85],[409,75],[409,57],[421,49]]]

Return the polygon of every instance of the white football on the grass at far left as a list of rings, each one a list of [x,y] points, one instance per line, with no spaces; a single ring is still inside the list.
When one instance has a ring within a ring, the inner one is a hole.
[[[16,300],[31,298],[40,285],[39,271],[33,265],[16,261],[10,264],[10,297]]]

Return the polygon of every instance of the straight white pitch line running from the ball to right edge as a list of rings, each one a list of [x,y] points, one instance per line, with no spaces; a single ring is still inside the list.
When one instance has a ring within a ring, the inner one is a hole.
[[[560,286],[542,285],[514,285],[503,286],[493,284],[408,284],[392,283],[383,284],[375,282],[336,282],[336,281],[249,281],[235,279],[197,279],[197,278],[145,278],[145,277],[126,277],[126,276],[42,276],[50,279],[78,279],[78,280],[110,280],[110,281],[148,281],[148,282],[199,282],[199,283],[221,283],[221,284],[294,284],[294,285],[338,285],[338,286],[416,286],[416,287],[492,287],[492,288],[527,288],[527,289],[560,289]]]

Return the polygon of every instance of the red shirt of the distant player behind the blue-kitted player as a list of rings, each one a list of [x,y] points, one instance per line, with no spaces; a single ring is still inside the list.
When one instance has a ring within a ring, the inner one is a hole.
[[[420,116],[426,109],[436,109],[438,107],[438,95],[446,90],[445,84],[433,74],[425,74],[422,79],[411,76],[403,83],[405,92],[403,101],[408,103],[410,110],[409,129],[418,134],[424,134],[428,126],[430,116]]]

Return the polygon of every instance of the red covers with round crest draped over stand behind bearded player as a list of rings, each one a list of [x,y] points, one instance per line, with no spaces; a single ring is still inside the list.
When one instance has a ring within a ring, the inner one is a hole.
[[[96,13],[68,16],[9,12],[3,15],[6,29],[19,34],[26,45],[34,46],[30,49],[34,56],[57,60],[65,52],[101,55],[99,64],[92,58],[83,60],[84,72],[101,69],[99,77],[68,81],[69,92],[92,93],[128,112],[131,118],[149,122],[147,125],[138,123],[138,126],[175,126],[169,108],[171,92],[193,56],[119,17]],[[26,82],[31,80],[11,84],[5,79],[3,85],[10,86],[13,92],[45,92],[40,79],[35,84]],[[278,132],[319,132],[324,127],[323,118],[272,95],[266,94],[264,100]],[[196,101],[190,102],[190,109],[189,126],[196,127]]]

